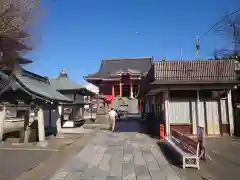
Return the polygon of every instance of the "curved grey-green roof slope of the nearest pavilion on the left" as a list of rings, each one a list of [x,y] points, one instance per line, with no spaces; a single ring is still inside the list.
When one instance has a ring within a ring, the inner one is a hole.
[[[72,102],[73,100],[56,91],[49,83],[48,78],[39,76],[26,70],[14,73],[18,83],[28,92],[48,100]]]

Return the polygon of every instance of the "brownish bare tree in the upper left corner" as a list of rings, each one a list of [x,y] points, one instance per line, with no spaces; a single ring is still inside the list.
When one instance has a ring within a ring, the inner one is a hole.
[[[14,65],[31,50],[31,25],[39,13],[39,0],[0,0],[0,60]]]

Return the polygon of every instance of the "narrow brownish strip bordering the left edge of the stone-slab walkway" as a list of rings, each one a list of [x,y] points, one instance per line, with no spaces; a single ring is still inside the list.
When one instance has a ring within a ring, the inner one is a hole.
[[[56,152],[46,161],[41,162],[33,169],[23,173],[16,180],[44,180],[50,177],[65,161],[81,151],[84,146],[97,135],[99,128],[95,128],[90,134],[65,147],[60,152]]]

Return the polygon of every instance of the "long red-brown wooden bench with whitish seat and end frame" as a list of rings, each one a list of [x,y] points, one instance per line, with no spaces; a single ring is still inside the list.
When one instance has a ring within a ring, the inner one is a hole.
[[[173,148],[179,155],[181,155],[184,169],[186,167],[200,169],[199,142],[174,129],[171,130],[171,136],[165,137],[165,142],[167,145],[170,145],[170,147]]]

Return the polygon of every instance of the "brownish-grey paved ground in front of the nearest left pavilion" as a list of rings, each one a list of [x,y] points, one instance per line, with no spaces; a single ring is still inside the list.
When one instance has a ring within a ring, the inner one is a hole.
[[[0,180],[15,180],[23,174],[35,171],[40,164],[48,161],[53,156],[61,155],[62,150],[70,148],[74,143],[80,141],[83,136],[66,135],[61,139],[49,136],[47,138],[48,146],[45,148],[37,147],[36,143],[19,144],[16,143],[18,139],[8,139],[5,143],[0,144]],[[58,159],[60,158],[58,157]],[[48,169],[54,168],[51,165],[49,165]],[[56,169],[54,168],[51,174]],[[44,171],[44,174],[47,174],[47,172]],[[26,179],[28,178],[24,178],[24,180]],[[36,179],[35,175],[34,180]]]

